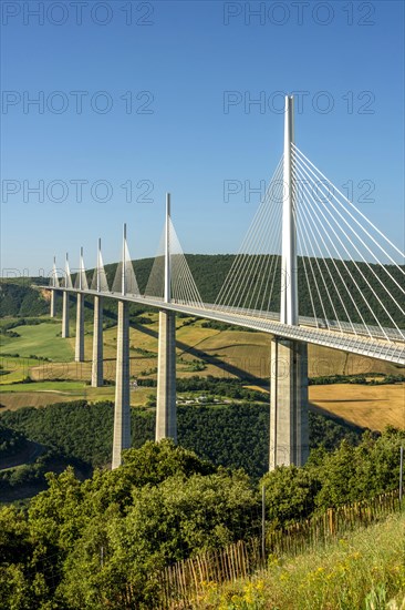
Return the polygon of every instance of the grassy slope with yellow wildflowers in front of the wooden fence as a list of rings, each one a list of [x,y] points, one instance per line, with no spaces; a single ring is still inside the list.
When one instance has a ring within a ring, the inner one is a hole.
[[[229,584],[207,582],[198,610],[399,610],[405,606],[405,515],[359,529]]]

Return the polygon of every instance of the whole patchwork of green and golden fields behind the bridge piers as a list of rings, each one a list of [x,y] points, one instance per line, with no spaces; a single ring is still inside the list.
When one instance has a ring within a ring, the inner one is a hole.
[[[131,375],[156,378],[158,315],[147,314],[150,324],[135,325],[129,332]],[[250,374],[269,378],[271,337],[263,333],[246,331],[218,331],[204,328],[202,321],[189,324],[188,318],[176,319],[177,376],[212,375],[231,378]],[[71,333],[74,335],[74,321]],[[19,326],[20,337],[1,336],[1,354],[19,354],[0,359],[2,390],[0,403],[7,408],[43,406],[61,400],[84,398],[87,400],[114,399],[114,387],[92,388],[89,384],[92,368],[93,329],[85,324],[85,362],[74,363],[74,336],[62,339],[60,321]],[[116,328],[104,331],[104,377],[115,379]],[[49,358],[52,362],[30,358]],[[195,364],[199,370],[196,372]],[[201,363],[204,363],[201,365]],[[202,368],[202,369],[201,369]],[[309,375],[353,375],[359,373],[397,374],[388,363],[363,358],[321,346],[309,346]],[[35,383],[20,384],[27,377]],[[247,384],[250,385],[250,384]],[[255,384],[253,384],[255,385]],[[405,386],[311,386],[310,401],[314,410],[334,414],[359,426],[383,429],[387,424],[405,426]],[[153,388],[132,392],[133,406],[144,405]]]

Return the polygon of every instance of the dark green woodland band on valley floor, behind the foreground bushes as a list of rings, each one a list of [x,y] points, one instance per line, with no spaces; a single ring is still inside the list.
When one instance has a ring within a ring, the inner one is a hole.
[[[111,460],[114,407],[85,400],[37,409],[4,411],[0,421],[69,458],[92,467]],[[177,407],[178,440],[216,465],[245,468],[256,478],[268,469],[269,407],[267,404],[193,405]],[[154,409],[132,409],[132,444],[141,447],[155,433]],[[332,449],[346,438],[359,441],[361,430],[310,414],[311,446]]]

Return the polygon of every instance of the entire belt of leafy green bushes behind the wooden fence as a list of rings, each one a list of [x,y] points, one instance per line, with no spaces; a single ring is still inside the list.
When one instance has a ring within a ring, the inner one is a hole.
[[[277,468],[262,480],[267,518],[277,527],[392,489],[404,439],[390,429]],[[259,531],[261,484],[169,440],[126,451],[116,470],[81,482],[68,469],[49,485],[27,512],[0,510],[0,608],[158,608],[164,566]]]

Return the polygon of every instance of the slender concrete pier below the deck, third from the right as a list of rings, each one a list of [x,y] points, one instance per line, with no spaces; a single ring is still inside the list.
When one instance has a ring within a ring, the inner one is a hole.
[[[118,301],[116,378],[112,469],[121,466],[122,450],[131,447],[129,315],[128,303]]]

